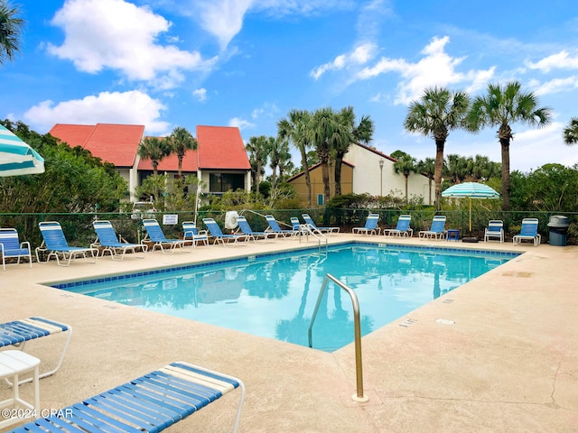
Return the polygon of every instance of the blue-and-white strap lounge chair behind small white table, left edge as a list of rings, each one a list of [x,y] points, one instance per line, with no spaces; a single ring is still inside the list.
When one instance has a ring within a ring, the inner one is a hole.
[[[26,342],[42,336],[51,336],[60,332],[68,332],[68,338],[62,348],[61,358],[52,370],[40,373],[39,378],[50,376],[61,368],[64,354],[70,343],[72,327],[48,318],[23,318],[0,324],[0,347],[14,345],[23,350]],[[43,363],[42,363],[43,364]],[[20,383],[32,382],[32,378],[24,379]]]

